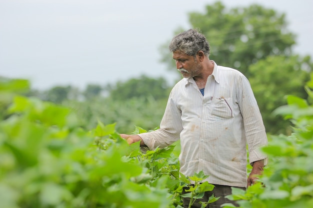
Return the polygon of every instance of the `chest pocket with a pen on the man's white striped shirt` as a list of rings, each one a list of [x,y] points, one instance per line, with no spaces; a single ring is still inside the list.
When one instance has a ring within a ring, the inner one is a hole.
[[[231,97],[224,98],[220,96],[213,99],[211,114],[220,119],[232,118]]]

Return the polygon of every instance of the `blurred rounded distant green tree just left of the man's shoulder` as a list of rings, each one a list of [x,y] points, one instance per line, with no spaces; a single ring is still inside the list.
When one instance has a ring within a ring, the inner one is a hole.
[[[141,75],[139,78],[132,78],[125,82],[117,82],[109,92],[113,100],[127,100],[130,98],[149,97],[163,99],[168,97],[168,86],[162,77],[149,78]]]

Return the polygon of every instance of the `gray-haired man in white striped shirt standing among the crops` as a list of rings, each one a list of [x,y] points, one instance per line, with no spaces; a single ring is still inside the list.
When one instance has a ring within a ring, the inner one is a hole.
[[[224,198],[231,187],[244,189],[262,173],[267,158],[259,148],[267,144],[265,128],[246,77],[239,71],[218,66],[208,58],[204,35],[189,29],[173,37],[169,50],[183,76],[171,90],[167,106],[156,131],[125,135],[128,144],[154,149],[180,139],[180,172],[185,176],[203,171],[213,184],[212,194],[221,197],[209,208],[234,202]],[[246,144],[252,171],[246,177]],[[184,208],[189,199],[184,199]],[[200,208],[198,203],[193,208]]]

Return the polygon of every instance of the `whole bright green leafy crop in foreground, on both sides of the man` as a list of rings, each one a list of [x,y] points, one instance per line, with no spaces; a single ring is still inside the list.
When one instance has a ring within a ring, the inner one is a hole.
[[[241,208],[313,206],[313,73],[310,77],[304,86],[308,99],[289,95],[288,105],[274,111],[291,121],[292,134],[269,136],[263,148],[269,164],[259,183],[246,192],[234,188],[228,196]],[[86,131],[72,109],[19,95],[27,83],[0,82],[5,86],[0,93],[10,98],[1,106],[6,112],[0,121],[1,207],[182,208],[183,197],[199,199],[213,189],[200,183],[209,177],[203,172],[179,173],[179,143],[143,152],[138,143],[129,146],[121,139],[115,124],[99,121]],[[136,127],[133,134],[142,132]],[[183,187],[189,193],[182,195]]]

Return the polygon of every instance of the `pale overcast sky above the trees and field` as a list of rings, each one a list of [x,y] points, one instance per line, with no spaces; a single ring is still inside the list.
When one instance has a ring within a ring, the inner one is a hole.
[[[189,28],[188,12],[204,12],[213,2],[0,0],[0,76],[29,79],[39,90],[68,84],[82,89],[141,74],[173,81],[176,74],[159,62],[158,47],[177,27]],[[313,57],[313,0],[222,2],[284,12],[297,35],[296,52]]]

